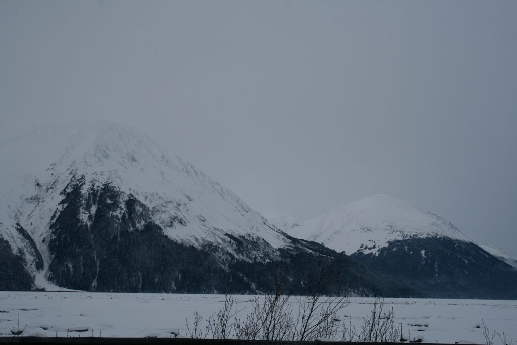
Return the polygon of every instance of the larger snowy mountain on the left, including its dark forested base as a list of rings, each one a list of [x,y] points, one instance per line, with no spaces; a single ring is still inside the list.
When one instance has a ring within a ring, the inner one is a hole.
[[[343,277],[328,293],[415,293],[287,235],[126,125],[42,128],[0,143],[0,161],[0,290],[257,293],[286,268],[303,294],[324,258]]]

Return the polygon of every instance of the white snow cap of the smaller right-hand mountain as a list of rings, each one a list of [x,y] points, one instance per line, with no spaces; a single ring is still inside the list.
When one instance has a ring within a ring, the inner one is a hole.
[[[377,253],[397,239],[449,237],[470,240],[437,214],[403,200],[376,195],[311,219],[288,233],[352,254]]]

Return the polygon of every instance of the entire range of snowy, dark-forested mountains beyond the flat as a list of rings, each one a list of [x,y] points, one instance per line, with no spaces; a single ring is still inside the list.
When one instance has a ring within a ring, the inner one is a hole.
[[[517,298],[510,259],[389,198],[269,220],[138,129],[42,128],[0,143],[0,290]],[[508,263],[507,263],[508,262]],[[331,274],[330,274],[331,273]]]

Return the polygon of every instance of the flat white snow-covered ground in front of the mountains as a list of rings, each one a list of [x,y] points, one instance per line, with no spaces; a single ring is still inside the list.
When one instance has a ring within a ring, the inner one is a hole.
[[[243,318],[253,296],[236,298],[239,309],[244,308],[239,313]],[[192,325],[193,310],[206,319],[223,302],[222,295],[0,292],[0,336],[16,331],[18,317],[20,329],[26,324],[22,336],[169,338],[174,337],[171,332],[188,336],[185,321],[189,318]],[[353,297],[341,317],[352,318],[359,328],[372,303],[373,298]],[[517,341],[517,301],[386,298],[386,307],[393,307],[395,322],[402,323],[406,338],[410,331],[412,338],[427,343],[482,344],[484,319],[491,332],[505,332],[507,339]],[[496,336],[494,344],[499,343]]]

